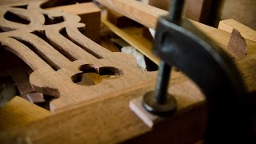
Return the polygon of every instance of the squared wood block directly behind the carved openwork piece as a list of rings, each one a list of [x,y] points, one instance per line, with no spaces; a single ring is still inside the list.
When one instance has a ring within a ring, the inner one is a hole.
[[[78,3],[68,6],[58,6],[47,10],[63,10],[70,14],[78,14],[82,23],[86,24],[83,34],[94,42],[99,42],[101,10],[93,2]]]

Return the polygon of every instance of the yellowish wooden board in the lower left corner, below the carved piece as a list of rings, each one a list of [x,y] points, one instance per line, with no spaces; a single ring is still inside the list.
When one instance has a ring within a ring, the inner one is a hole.
[[[48,116],[50,111],[16,96],[6,106],[0,108],[0,131],[25,126]]]

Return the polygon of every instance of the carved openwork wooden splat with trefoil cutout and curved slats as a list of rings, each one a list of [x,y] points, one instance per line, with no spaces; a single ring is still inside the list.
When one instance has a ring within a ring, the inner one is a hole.
[[[59,97],[50,102],[51,110],[154,78],[155,73],[139,70],[131,56],[112,53],[86,38],[77,15],[42,10],[41,5],[1,6],[0,42],[34,70],[30,82],[36,90]],[[86,77],[97,82],[84,82]]]

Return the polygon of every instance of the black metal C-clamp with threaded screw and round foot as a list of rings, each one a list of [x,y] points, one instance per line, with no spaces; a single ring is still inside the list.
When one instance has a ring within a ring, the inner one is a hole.
[[[167,88],[171,67],[175,66],[206,97],[209,110],[205,142],[249,142],[253,126],[241,74],[224,50],[189,20],[182,19],[183,5],[184,0],[173,0],[170,14],[158,18],[153,52],[162,60],[156,88],[144,95],[142,106],[152,114],[174,114],[177,102],[167,94]]]

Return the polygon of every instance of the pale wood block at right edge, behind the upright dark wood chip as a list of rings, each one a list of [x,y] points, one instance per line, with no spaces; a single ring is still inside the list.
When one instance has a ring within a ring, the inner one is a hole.
[[[256,42],[256,31],[248,26],[243,25],[240,22],[235,21],[234,19],[226,19],[220,21],[218,24],[218,29],[229,33],[231,33],[233,29],[236,29],[242,34],[244,38]]]

